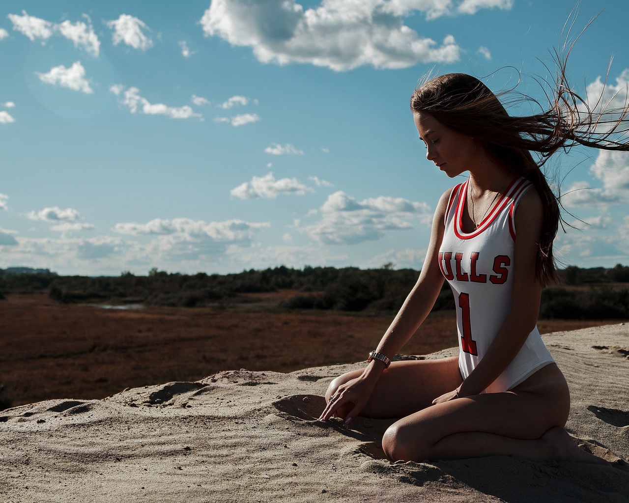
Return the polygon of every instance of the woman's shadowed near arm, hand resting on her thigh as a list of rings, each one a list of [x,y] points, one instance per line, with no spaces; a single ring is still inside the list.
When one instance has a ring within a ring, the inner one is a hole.
[[[535,275],[535,260],[542,232],[543,209],[537,191],[522,197],[515,213],[516,240],[513,299],[496,338],[476,368],[460,385],[458,396],[476,395],[503,373],[537,323],[542,286]]]

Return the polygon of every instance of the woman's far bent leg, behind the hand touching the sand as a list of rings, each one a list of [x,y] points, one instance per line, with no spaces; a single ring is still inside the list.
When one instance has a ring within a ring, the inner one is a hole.
[[[326,399],[346,382],[360,377],[363,370],[345,373],[333,380],[326,392]],[[459,358],[440,360],[407,360],[392,362],[382,372],[369,402],[360,416],[374,418],[404,417],[432,405],[432,401],[456,389],[462,382]],[[338,411],[343,417],[344,412]]]

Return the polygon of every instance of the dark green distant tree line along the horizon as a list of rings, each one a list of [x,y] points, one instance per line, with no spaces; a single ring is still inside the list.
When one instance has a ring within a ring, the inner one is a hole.
[[[57,302],[110,302],[147,306],[227,307],[242,301],[242,294],[298,290],[281,303],[283,309],[338,311],[397,311],[420,272],[381,268],[275,267],[237,274],[179,274],[152,268],[146,276],[60,276],[47,269],[0,269],[0,298],[13,292],[48,292]],[[564,286],[543,291],[541,318],[629,319],[629,267],[580,268],[562,271]],[[580,288],[573,288],[573,287]],[[456,309],[444,284],[433,311]]]

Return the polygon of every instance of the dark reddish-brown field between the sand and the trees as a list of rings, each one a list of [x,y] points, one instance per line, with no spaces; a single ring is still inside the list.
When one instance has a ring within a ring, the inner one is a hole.
[[[44,294],[0,301],[0,404],[99,399],[127,387],[194,381],[220,370],[291,372],[364,360],[392,317],[273,309],[295,292],[252,294],[219,311],[58,305]],[[245,309],[245,306],[248,306]],[[254,309],[257,308],[257,309]],[[454,312],[426,319],[403,353],[457,345]],[[540,321],[542,333],[615,321]]]

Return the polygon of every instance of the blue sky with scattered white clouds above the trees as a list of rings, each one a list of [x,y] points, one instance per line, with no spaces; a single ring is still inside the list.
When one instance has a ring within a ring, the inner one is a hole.
[[[597,15],[568,73],[622,104],[624,0],[4,0],[0,268],[419,269],[464,178],[425,158],[418,82],[464,72],[545,102],[554,49]],[[562,264],[629,263],[629,155],[547,168],[578,228]]]

